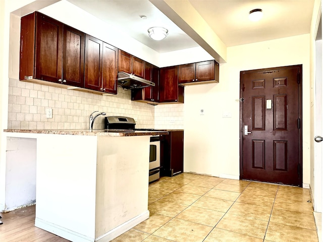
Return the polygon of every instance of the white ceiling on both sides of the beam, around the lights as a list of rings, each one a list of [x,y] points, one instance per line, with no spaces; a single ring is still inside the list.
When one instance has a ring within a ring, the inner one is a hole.
[[[68,0],[97,18],[156,50],[169,52],[198,46],[148,0]],[[226,46],[290,37],[310,32],[314,0],[247,1],[189,0]],[[251,22],[248,13],[262,9],[263,18]],[[145,15],[143,20],[140,16]],[[149,38],[148,28],[165,27],[161,41]]]

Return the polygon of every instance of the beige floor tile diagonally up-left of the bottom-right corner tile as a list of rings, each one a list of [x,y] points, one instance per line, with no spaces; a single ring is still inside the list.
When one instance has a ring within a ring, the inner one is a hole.
[[[235,202],[228,213],[269,221],[272,208]]]

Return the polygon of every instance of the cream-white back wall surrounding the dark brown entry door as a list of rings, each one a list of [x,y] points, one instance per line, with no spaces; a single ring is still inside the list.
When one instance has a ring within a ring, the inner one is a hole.
[[[227,61],[219,84],[185,87],[184,171],[238,178],[240,71],[302,64],[303,183],[309,184],[309,34],[229,47]]]

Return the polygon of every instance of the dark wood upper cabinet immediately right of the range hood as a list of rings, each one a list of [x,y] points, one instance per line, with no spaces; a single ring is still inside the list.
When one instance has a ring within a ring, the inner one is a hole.
[[[146,62],[144,78],[153,82],[155,86],[144,87],[142,89],[132,89],[131,99],[133,101],[158,102],[159,68]]]

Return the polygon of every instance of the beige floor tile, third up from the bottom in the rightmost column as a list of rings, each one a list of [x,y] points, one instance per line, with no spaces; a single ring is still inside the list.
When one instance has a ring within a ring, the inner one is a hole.
[[[313,213],[313,207],[311,203],[295,202],[295,201],[279,199],[279,198],[275,199],[274,208],[294,211],[299,213],[308,213],[308,214]]]

